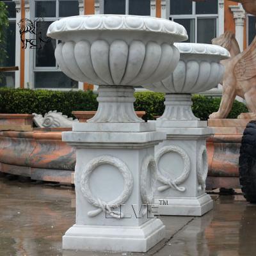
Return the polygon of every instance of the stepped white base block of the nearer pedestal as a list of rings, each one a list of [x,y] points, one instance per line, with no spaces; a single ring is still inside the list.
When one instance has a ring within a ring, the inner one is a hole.
[[[73,225],[63,236],[64,250],[147,252],[164,238],[159,219],[140,227]]]

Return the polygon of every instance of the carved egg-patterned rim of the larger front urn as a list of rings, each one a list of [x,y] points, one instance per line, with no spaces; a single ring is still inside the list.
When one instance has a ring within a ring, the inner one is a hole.
[[[172,20],[136,15],[79,15],[65,17],[53,22],[47,36],[60,39],[61,35],[70,31],[147,31],[169,35],[173,42],[188,39],[186,29]],[[71,38],[70,38],[71,39]]]

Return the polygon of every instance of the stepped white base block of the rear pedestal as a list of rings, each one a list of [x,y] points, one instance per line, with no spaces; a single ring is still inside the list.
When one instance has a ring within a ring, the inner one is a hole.
[[[213,208],[211,196],[204,194],[197,197],[155,197],[159,204],[160,215],[202,216]]]

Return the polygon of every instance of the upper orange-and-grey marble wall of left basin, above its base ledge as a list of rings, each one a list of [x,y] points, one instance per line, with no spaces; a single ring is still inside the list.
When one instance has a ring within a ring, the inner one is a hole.
[[[31,168],[74,170],[76,150],[61,132],[0,132],[0,162]]]

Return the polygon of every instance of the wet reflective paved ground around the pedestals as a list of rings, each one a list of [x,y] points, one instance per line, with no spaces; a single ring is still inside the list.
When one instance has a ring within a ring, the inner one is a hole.
[[[161,217],[166,239],[147,253],[62,252],[75,221],[74,189],[0,178],[0,256],[255,256],[256,205],[242,195],[212,195],[202,218]]]

